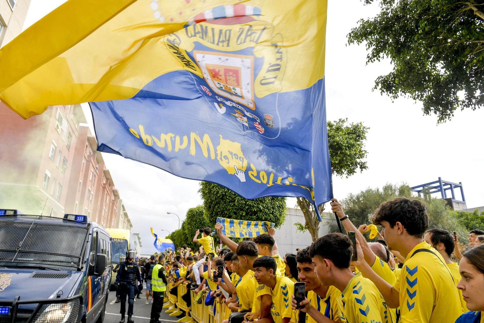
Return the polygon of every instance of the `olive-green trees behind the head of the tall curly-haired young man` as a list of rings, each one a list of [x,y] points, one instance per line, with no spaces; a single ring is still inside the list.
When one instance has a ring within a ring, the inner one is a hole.
[[[367,188],[356,195],[348,194],[347,198],[341,200],[341,204],[345,213],[358,228],[361,224],[371,223],[370,218],[381,203],[398,197],[418,199],[425,203],[425,206],[428,208],[429,229],[441,228],[450,232],[456,231],[459,237],[466,236],[466,228],[460,223],[445,200],[430,198],[428,195],[428,199],[425,200],[413,197],[408,185],[387,184],[381,189]],[[336,224],[333,224],[332,230],[337,230]],[[366,235],[368,236],[369,232]]]

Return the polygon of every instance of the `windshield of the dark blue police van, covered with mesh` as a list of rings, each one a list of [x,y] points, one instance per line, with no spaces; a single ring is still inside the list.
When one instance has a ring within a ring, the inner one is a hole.
[[[76,270],[89,226],[38,215],[0,217],[0,266]]]

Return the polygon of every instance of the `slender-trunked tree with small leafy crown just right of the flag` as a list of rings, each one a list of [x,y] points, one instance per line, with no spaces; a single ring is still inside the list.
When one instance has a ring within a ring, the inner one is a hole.
[[[348,123],[348,119],[339,119],[328,124],[328,145],[331,168],[334,175],[351,176],[358,170],[367,169],[364,143],[368,127],[363,123]],[[317,184],[316,184],[317,185]],[[297,198],[299,208],[304,214],[304,225],[295,223],[298,231],[309,231],[313,241],[319,238],[319,221],[313,204],[304,198]],[[324,211],[324,204],[318,206]]]

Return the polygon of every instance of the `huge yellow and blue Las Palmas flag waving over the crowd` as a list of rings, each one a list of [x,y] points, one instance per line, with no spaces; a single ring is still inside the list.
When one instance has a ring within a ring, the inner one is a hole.
[[[23,118],[90,102],[98,150],[247,199],[333,196],[327,0],[69,0],[0,49]]]

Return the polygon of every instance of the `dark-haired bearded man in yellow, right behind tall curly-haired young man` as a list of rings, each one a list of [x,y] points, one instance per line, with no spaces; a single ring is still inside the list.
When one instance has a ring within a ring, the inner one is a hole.
[[[425,231],[423,240],[439,251],[440,255],[442,255],[445,264],[447,267],[449,267],[455,286],[457,286],[460,280],[460,274],[459,264],[451,260],[452,252],[454,252],[454,238],[452,237],[452,234],[444,229],[430,229]],[[466,313],[468,309],[466,306],[466,301],[464,301],[464,297],[462,296],[462,291],[458,290],[458,293],[462,313]]]

